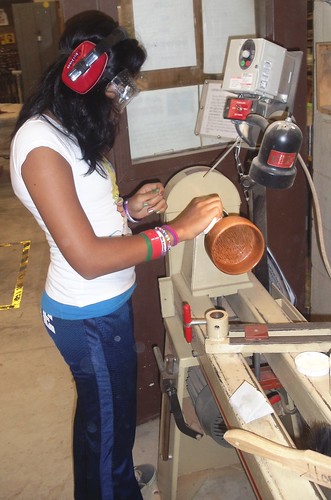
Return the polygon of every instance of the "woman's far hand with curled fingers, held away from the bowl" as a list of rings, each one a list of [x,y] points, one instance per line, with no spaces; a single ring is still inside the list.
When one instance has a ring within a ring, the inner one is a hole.
[[[163,213],[167,209],[164,187],[160,182],[144,184],[128,199],[128,211],[134,219],[143,219],[152,213]]]

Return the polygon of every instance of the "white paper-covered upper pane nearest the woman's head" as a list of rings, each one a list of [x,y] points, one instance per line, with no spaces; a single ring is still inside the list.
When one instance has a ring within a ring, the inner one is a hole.
[[[135,36],[147,51],[143,71],[196,66],[192,0],[132,0]]]

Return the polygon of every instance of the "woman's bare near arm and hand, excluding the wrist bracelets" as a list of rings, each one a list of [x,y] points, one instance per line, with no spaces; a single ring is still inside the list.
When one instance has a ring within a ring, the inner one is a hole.
[[[32,150],[22,166],[22,176],[61,253],[84,278],[93,279],[145,261],[146,243],[139,235],[95,235],[78,200],[70,165],[60,154],[46,147]],[[221,216],[219,197],[204,198],[193,200],[192,208],[185,209],[173,222],[180,241],[193,238],[213,217]]]

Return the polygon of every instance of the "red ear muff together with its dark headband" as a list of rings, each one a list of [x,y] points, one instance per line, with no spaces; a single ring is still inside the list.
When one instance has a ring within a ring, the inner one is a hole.
[[[62,81],[78,94],[86,94],[102,77],[107,66],[109,49],[127,38],[126,31],[115,28],[97,45],[89,40],[82,42],[68,57]]]

